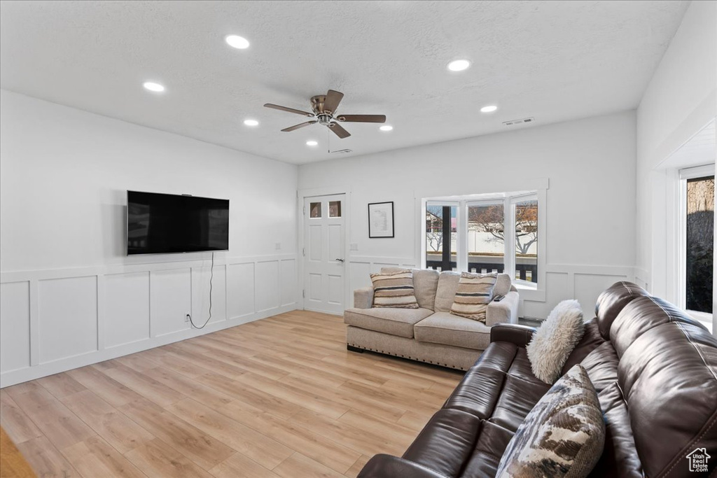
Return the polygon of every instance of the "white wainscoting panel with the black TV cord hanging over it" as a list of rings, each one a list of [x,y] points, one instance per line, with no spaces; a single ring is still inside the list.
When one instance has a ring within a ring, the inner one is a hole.
[[[227,320],[227,267],[214,266],[212,277],[211,267],[191,268],[191,318],[195,325],[201,327],[209,318],[209,281],[212,281],[212,319],[214,322]]]

